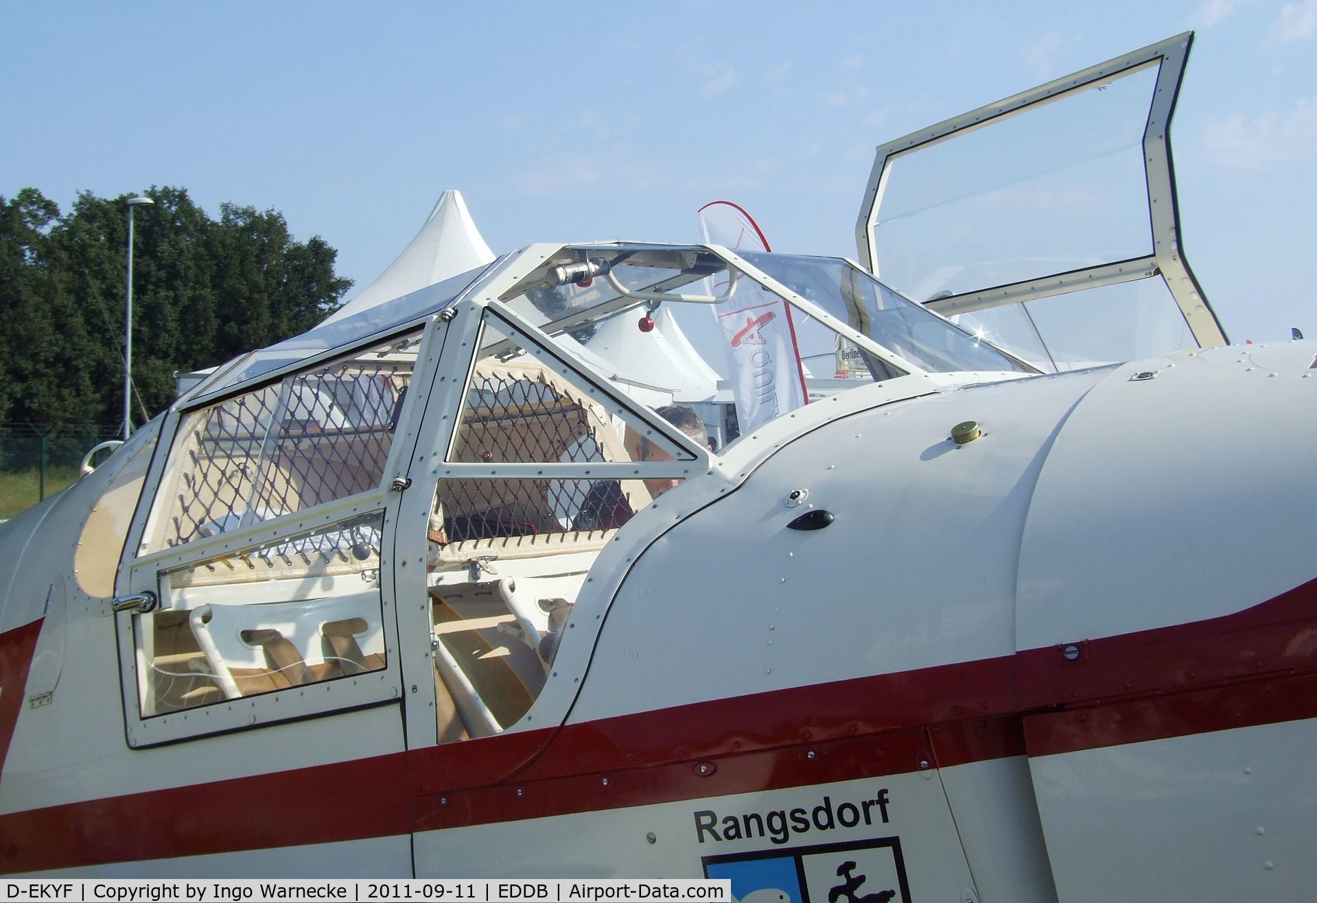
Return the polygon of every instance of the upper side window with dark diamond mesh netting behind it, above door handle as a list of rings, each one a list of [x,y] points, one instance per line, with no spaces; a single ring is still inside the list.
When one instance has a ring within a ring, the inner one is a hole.
[[[419,341],[395,340],[187,417],[163,545],[378,486]]]

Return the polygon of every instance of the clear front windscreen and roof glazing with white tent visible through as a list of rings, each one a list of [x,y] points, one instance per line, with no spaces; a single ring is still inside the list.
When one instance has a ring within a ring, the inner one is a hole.
[[[719,446],[871,382],[1035,373],[838,258],[619,244],[539,259],[500,300],[632,400],[697,407]]]

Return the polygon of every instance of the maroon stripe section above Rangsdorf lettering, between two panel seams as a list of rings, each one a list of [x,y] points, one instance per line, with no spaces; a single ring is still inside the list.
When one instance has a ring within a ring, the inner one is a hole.
[[[986,717],[1015,711],[1013,684],[989,658],[569,724],[512,782],[419,799],[417,829],[917,771],[930,721],[946,765],[1023,756],[1019,719]]]

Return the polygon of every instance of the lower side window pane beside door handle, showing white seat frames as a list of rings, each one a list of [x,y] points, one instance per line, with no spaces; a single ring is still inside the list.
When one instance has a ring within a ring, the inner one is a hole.
[[[382,670],[383,513],[161,574],[134,619],[142,717]]]

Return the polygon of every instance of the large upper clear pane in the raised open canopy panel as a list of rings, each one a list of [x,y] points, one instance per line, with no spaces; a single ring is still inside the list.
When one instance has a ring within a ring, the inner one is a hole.
[[[1156,63],[888,161],[878,278],[926,301],[1152,251],[1143,128]]]

